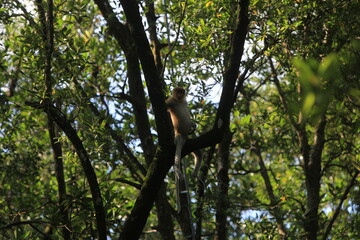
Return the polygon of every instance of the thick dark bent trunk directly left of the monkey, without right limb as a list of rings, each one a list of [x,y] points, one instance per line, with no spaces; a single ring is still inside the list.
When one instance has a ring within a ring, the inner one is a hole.
[[[136,45],[142,70],[145,76],[150,100],[155,115],[155,122],[159,139],[159,152],[155,161],[150,165],[146,181],[141,188],[131,214],[125,222],[121,239],[138,239],[163,180],[173,164],[174,145],[173,131],[165,106],[165,95],[162,91],[162,80],[157,71],[154,57],[147,40],[137,1],[120,1]]]

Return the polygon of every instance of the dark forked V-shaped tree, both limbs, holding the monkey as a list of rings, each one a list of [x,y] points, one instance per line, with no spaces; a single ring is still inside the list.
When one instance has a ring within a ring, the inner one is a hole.
[[[110,12],[110,5],[108,4],[108,1],[95,0],[95,2],[99,5],[99,8],[102,12]],[[158,192],[163,179],[166,176],[166,173],[173,165],[173,131],[171,128],[170,118],[166,111],[165,96],[162,92],[162,79],[159,76],[158,69],[154,62],[154,55],[151,52],[150,44],[144,31],[138,3],[135,0],[121,0],[120,2],[123,6],[131,37],[136,46],[137,52],[141,52],[139,59],[142,65],[142,70],[145,76],[150,100],[154,110],[160,147],[155,160],[150,165],[146,180],[135,202],[134,208],[125,222],[123,232],[120,237],[121,239],[138,239],[142,228],[146,223],[146,219],[149,215],[151,207],[155,201],[156,193]],[[229,69],[224,74],[224,89],[214,129],[200,137],[198,140],[188,141],[188,143],[184,146],[183,156],[194,151],[195,149],[206,146],[213,146],[222,138],[222,130],[224,129],[224,126],[226,126],[226,124],[223,123],[229,121],[228,119],[230,116],[230,111],[233,106],[234,86],[237,79],[240,59],[243,52],[243,45],[247,34],[248,5],[248,0],[241,1],[241,13],[239,14],[238,24],[232,38],[232,51],[230,54]],[[126,29],[124,29],[124,25],[118,24],[118,20],[115,16],[108,15],[107,17],[107,22],[110,29],[116,30],[119,28],[120,30],[125,30],[117,31],[117,39],[119,39],[120,42],[123,42],[124,40],[121,40],[121,34],[125,35],[127,32]],[[127,37],[127,35],[125,37]],[[122,44],[123,46],[125,45],[125,43]],[[211,140],[206,139],[209,136]],[[205,142],[202,142],[202,140],[205,140]],[[193,143],[194,145],[192,145]],[[192,149],[194,147],[195,149]]]

